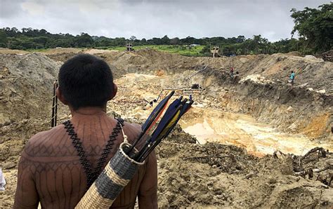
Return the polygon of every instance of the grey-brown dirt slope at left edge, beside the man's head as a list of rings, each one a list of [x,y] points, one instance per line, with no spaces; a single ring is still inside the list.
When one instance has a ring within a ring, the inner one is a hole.
[[[0,124],[45,119],[59,67],[41,54],[0,54]]]

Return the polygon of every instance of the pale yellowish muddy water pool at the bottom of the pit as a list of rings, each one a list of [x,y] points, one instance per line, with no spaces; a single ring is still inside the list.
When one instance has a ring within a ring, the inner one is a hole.
[[[201,144],[234,144],[244,147],[256,156],[273,154],[276,149],[299,155],[316,146],[331,150],[333,148],[332,143],[320,144],[305,135],[282,133],[245,114],[219,112],[214,109],[194,107],[183,116],[180,124],[186,133],[195,135]]]

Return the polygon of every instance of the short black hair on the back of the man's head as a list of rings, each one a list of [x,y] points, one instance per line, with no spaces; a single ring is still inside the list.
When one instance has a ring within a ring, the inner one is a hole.
[[[113,93],[113,76],[104,60],[82,54],[60,67],[59,88],[73,109],[103,107]]]

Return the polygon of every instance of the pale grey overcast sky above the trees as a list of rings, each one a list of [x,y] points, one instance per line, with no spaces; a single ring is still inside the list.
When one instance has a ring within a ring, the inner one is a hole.
[[[0,0],[0,27],[138,39],[261,34],[290,38],[290,9],[329,0]]]

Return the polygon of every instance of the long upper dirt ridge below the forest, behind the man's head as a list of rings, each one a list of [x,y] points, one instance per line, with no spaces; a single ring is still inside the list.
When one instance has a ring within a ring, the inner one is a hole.
[[[162,53],[156,50],[144,49],[136,52],[119,52],[115,50],[81,50],[70,53],[54,50],[46,55],[56,61],[65,61],[77,53],[91,53],[117,67],[123,74],[155,74],[163,70],[167,74],[181,73],[185,70],[198,69],[209,64],[218,70],[229,70],[235,67],[242,76],[261,74],[266,79],[285,83],[290,72],[296,72],[296,84],[303,84],[313,90],[325,89],[332,93],[333,63],[308,56],[302,58],[294,55],[240,55],[230,58],[190,58],[176,54]]]

